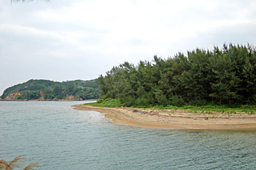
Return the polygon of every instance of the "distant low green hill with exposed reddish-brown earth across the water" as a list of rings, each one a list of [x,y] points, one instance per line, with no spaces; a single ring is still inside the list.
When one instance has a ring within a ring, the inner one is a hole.
[[[45,100],[53,99],[96,99],[99,98],[100,91],[97,81],[75,80],[75,81],[50,81],[50,80],[29,80],[23,84],[11,86],[4,91],[1,98],[6,98],[12,94],[19,93],[15,100]],[[72,96],[72,98],[68,98]]]

